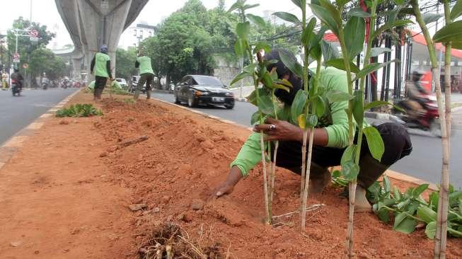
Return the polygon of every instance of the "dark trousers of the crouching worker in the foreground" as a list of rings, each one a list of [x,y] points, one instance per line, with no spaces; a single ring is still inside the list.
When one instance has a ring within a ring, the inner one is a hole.
[[[383,153],[381,161],[373,159],[375,164],[372,166],[376,166],[377,168],[370,168],[371,164],[368,163],[368,166],[364,167],[369,168],[362,168],[359,171],[358,181],[362,182],[365,187],[374,183],[386,168],[393,165],[393,163],[402,159],[404,156],[408,156],[412,151],[412,144],[408,131],[402,125],[394,122],[387,122],[374,127],[376,127],[381,134],[383,144],[385,144],[385,152]],[[301,142],[280,141],[277,151],[277,166],[287,168],[294,173],[300,174],[302,156],[301,145]],[[311,161],[322,168],[340,166],[343,151],[345,151],[345,149],[313,145]],[[369,152],[369,146],[367,146],[366,136],[363,136],[361,159],[359,159],[360,163],[365,156],[369,156],[368,159],[370,159],[371,154]],[[379,168],[383,168],[383,170],[379,170]],[[313,171],[313,173],[316,173],[316,171]],[[316,175],[313,176],[316,177]]]

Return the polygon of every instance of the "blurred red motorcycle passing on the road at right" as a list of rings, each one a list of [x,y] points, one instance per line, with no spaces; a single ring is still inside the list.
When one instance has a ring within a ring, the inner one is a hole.
[[[422,129],[432,133],[436,137],[441,137],[441,125],[439,125],[439,113],[438,104],[433,96],[425,95],[422,96],[420,102],[422,108],[425,109],[425,113],[419,115],[416,118],[410,117],[408,113],[403,113],[404,110],[410,110],[408,100],[400,100],[395,105],[398,108],[394,108],[394,115],[390,119],[397,122],[405,127],[411,129]]]

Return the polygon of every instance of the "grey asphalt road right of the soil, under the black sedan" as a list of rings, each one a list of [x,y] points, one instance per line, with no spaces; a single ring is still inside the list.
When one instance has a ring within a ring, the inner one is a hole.
[[[170,93],[155,92],[155,98],[173,103],[174,97]],[[241,125],[250,126],[250,116],[257,110],[250,103],[236,102],[233,110],[222,107],[194,108],[203,113],[222,117],[226,120],[238,122]],[[462,113],[462,111],[458,112]],[[456,119],[457,116],[454,116]],[[462,116],[458,116],[462,120]],[[427,180],[431,183],[439,183],[441,176],[441,139],[417,129],[410,129],[412,141],[412,154],[391,166],[391,170],[412,175],[416,178]],[[453,127],[451,137],[451,184],[456,188],[462,188],[462,127]]]

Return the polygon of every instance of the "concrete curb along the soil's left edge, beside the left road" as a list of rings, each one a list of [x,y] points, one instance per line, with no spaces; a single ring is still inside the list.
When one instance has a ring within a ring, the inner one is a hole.
[[[37,117],[33,122],[30,122],[29,125],[23,127],[23,129],[19,130],[13,137],[6,140],[6,142],[0,145],[0,169],[3,168],[6,163],[13,157],[14,154],[23,146],[23,144],[28,140],[30,137],[31,131],[37,131],[45,125],[45,120],[50,118],[54,115],[54,113],[66,105],[71,98],[73,98],[79,91],[75,91],[74,93],[69,94],[66,98],[61,100],[57,105],[54,105],[52,108],[47,110],[44,114]]]

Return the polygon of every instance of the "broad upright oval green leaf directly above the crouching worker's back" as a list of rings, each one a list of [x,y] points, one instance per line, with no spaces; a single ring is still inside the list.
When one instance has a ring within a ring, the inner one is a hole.
[[[364,35],[366,22],[364,18],[352,16],[345,25],[345,45],[347,46],[348,57],[356,57],[364,47]]]

